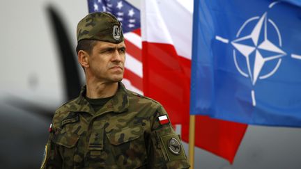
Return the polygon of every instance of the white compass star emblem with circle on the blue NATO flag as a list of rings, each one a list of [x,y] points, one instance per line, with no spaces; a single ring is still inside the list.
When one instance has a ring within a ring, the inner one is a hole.
[[[279,2],[276,1],[271,3],[269,8],[272,8],[277,3]],[[242,35],[242,31],[249,26],[249,24],[254,24],[255,26],[248,35]],[[268,29],[268,26],[270,29]],[[269,38],[269,31],[275,32],[277,40],[274,38],[272,41]],[[218,35],[215,36],[215,39],[227,44],[229,43],[228,39],[222,38]],[[287,55],[286,52],[281,49],[281,33],[275,22],[268,18],[268,12],[263,13],[261,16],[247,19],[247,21],[242,24],[238,30],[236,39],[232,40],[230,43],[233,46],[233,60],[236,65],[236,69],[242,76],[249,78],[253,86],[255,86],[258,79],[266,79],[275,74],[281,64],[281,58]],[[247,65],[247,67],[242,67],[238,63],[238,54],[245,57],[245,61],[247,62],[245,65]],[[301,59],[301,56],[291,54],[291,58]],[[263,67],[271,61],[274,61],[274,67],[270,70],[270,72],[265,72],[264,74]],[[256,106],[254,90],[251,91],[251,97],[253,106]]]

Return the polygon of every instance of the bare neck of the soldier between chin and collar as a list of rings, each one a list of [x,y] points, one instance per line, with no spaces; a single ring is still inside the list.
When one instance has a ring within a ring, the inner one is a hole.
[[[91,99],[111,97],[115,95],[118,90],[118,82],[114,83],[91,83],[87,81],[86,97]]]

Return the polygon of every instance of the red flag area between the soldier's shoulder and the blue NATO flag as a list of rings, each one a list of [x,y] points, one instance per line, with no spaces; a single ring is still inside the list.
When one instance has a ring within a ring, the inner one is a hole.
[[[166,108],[172,124],[189,122],[190,77],[173,45],[143,42],[144,95]]]

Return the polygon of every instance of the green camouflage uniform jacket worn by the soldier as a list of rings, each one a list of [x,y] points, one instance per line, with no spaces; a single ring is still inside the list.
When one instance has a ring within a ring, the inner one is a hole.
[[[83,95],[61,106],[41,168],[189,168],[180,138],[167,115],[153,99],[126,90],[118,91],[94,112]]]

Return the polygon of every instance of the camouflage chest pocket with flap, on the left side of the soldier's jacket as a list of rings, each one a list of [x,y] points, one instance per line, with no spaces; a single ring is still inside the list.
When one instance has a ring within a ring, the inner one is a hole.
[[[79,136],[59,129],[53,138],[53,142],[59,145],[59,152],[63,158],[63,168],[72,168],[77,141]]]

